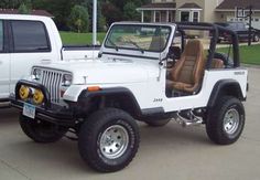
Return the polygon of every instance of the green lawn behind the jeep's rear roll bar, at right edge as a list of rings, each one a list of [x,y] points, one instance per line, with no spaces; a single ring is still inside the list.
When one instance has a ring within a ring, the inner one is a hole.
[[[228,47],[218,49],[219,52],[228,52]],[[240,45],[240,62],[245,64],[260,65],[260,44],[257,45]]]

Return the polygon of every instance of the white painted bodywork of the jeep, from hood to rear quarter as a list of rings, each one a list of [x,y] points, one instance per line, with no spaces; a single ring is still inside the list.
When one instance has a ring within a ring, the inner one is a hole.
[[[82,66],[82,70],[76,67],[77,65],[71,66],[71,68],[75,67],[75,72],[71,70],[74,77],[79,77],[74,80],[75,84],[84,82],[83,75],[87,76],[87,84],[72,85],[64,94],[64,99],[77,102],[82,91],[93,85],[101,88],[126,87],[134,95],[141,109],[162,107],[164,112],[177,112],[206,107],[214,86],[219,80],[238,82],[242,95],[246,97],[247,83],[245,82],[247,82],[248,72],[245,68],[205,71],[203,86],[198,94],[169,98],[165,96],[166,70],[161,67],[160,71],[158,62],[113,63],[110,66],[108,64],[104,65],[102,62],[91,62],[90,64],[87,67],[91,68],[86,70],[85,74],[83,74],[84,66]],[[99,70],[94,68],[94,66],[99,67]],[[242,72],[242,75],[235,75],[235,72]],[[161,98],[162,102],[154,102],[155,98]]]

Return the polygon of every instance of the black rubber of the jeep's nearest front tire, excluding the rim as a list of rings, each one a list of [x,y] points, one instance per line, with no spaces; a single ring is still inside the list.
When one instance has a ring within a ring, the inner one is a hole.
[[[100,150],[100,138],[106,129],[121,126],[129,136],[126,151],[116,159],[107,158]],[[78,149],[82,158],[93,169],[100,172],[113,172],[128,166],[139,148],[140,135],[136,120],[126,112],[117,108],[100,109],[82,125],[78,135]]]

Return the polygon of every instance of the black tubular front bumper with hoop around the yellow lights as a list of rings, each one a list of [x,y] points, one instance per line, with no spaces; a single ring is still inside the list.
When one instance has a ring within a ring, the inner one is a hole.
[[[50,94],[46,88],[37,83],[29,81],[19,81],[15,86],[15,94],[10,96],[11,106],[20,110],[23,110],[24,102],[19,98],[18,93],[21,85],[26,85],[30,87],[36,87],[41,89],[45,96],[44,106],[35,106],[35,119],[51,121],[61,126],[75,126],[74,110],[63,107],[56,104],[52,104],[50,99]]]

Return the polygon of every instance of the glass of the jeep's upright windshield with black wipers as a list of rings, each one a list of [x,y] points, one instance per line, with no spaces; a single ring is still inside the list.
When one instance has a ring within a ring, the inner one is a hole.
[[[119,49],[162,52],[171,34],[170,27],[116,24],[111,28],[105,46]]]

